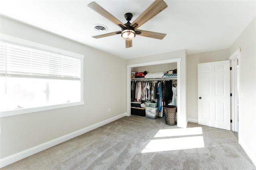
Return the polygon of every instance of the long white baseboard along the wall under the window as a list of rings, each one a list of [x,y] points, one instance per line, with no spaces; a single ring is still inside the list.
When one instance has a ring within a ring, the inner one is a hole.
[[[41,152],[42,150],[45,150],[45,149],[48,149],[52,146],[55,146],[57,144],[60,144],[62,142],[65,142],[67,140],[70,140],[76,136],[79,136],[81,134],[84,134],[86,132],[89,132],[90,130],[93,130],[95,128],[98,128],[98,127],[101,127],[103,125],[106,125],[112,121],[115,121],[117,119],[120,119],[121,117],[125,117],[127,115],[127,113],[122,113],[121,115],[117,115],[115,117],[112,117],[110,119],[107,119],[105,121],[102,121],[102,122],[99,122],[99,123],[96,123],[94,125],[91,125],[89,127],[86,127],[86,128],[82,128],[80,130],[77,130],[75,132],[72,132],[70,134],[66,134],[64,136],[61,136],[59,138],[56,138],[56,139],[53,139],[53,140],[50,140],[48,142],[45,142],[43,144],[40,144],[38,146],[34,146],[32,148],[29,148],[29,149],[26,149],[26,150],[23,150],[21,152],[18,152],[16,154],[13,154],[13,155],[10,155],[10,156],[7,156],[5,158],[2,158],[0,160],[0,168],[4,167],[4,166],[7,166],[9,164],[12,164],[18,160],[22,160],[23,158],[26,158],[28,156],[31,156],[33,154],[36,154],[38,152]]]

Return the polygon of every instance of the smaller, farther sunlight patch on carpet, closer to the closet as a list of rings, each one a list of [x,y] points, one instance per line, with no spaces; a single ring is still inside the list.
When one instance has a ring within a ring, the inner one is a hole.
[[[160,129],[154,138],[203,134],[202,127]]]

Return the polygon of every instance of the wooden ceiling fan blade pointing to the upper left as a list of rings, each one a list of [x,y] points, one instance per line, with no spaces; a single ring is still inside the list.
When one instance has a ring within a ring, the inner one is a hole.
[[[114,24],[120,26],[121,28],[126,28],[126,26],[121,21],[119,21],[116,17],[112,16],[104,8],[96,4],[96,2],[91,2],[90,4],[88,4],[88,6],[92,8],[94,11],[98,12],[100,15],[104,16],[105,18],[113,22]]]

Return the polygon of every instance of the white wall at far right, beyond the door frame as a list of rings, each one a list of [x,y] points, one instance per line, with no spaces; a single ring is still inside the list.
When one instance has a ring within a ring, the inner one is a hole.
[[[256,165],[256,18],[231,45],[229,54],[238,48],[241,49],[239,143]]]

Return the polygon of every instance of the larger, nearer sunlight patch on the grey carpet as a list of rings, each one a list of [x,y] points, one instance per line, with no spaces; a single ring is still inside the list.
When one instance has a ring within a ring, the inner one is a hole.
[[[151,140],[141,153],[204,148],[203,136]]]

